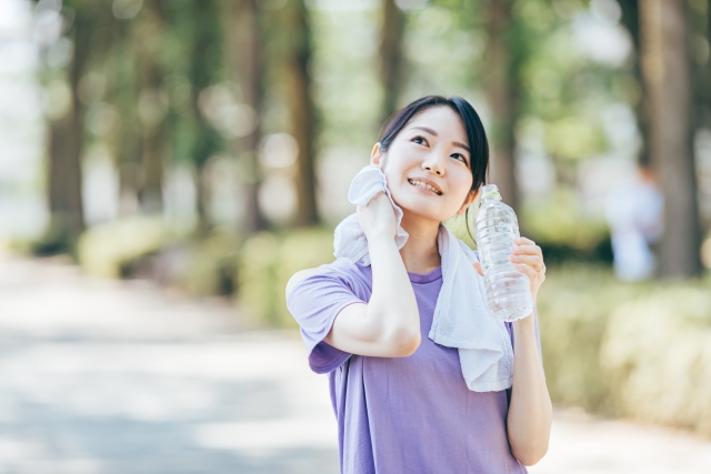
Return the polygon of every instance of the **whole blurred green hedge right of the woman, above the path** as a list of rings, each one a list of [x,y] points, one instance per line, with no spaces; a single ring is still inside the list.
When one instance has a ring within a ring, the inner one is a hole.
[[[551,269],[539,295],[555,403],[711,435],[711,293],[701,282],[620,283]]]

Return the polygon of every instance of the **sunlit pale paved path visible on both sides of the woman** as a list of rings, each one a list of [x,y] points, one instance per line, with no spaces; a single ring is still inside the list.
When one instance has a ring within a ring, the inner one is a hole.
[[[0,473],[338,473],[298,335],[220,302],[0,258]],[[559,411],[559,473],[710,473],[711,443]]]

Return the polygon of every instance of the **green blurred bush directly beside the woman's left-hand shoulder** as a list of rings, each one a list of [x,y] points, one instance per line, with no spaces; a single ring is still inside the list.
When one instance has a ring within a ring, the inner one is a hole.
[[[238,266],[238,303],[253,320],[296,327],[287,311],[287,282],[299,270],[333,261],[331,229],[261,232],[242,246]]]

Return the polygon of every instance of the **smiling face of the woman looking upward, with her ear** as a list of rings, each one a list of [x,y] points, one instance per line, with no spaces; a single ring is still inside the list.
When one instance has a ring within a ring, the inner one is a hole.
[[[392,199],[405,213],[441,222],[475,198],[470,160],[461,118],[449,107],[433,107],[412,118],[384,155],[375,144],[371,162],[382,164]]]

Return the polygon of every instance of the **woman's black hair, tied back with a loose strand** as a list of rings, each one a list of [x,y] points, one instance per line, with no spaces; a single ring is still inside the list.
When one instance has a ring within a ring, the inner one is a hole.
[[[467,130],[467,139],[469,140],[470,160],[469,168],[473,178],[471,190],[475,191],[487,182],[487,170],[489,168],[489,142],[484,125],[481,123],[479,114],[474,108],[461,97],[452,95],[445,98],[442,95],[427,95],[410,102],[400,111],[395,112],[385,121],[380,132],[380,149],[387,152],[398,133],[419,113],[434,107],[449,107],[462,119],[464,130]],[[467,222],[467,232],[469,236],[475,241],[469,229],[469,209],[464,214]]]

